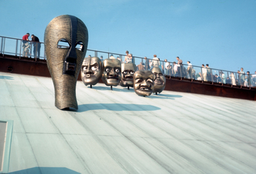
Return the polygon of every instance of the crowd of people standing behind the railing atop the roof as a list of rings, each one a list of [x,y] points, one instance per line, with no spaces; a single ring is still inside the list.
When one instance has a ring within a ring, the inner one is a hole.
[[[28,39],[30,36],[29,33],[23,36],[22,38],[22,48],[23,48],[23,57],[31,56],[32,47],[30,44],[30,40]],[[39,42],[38,37],[35,35],[31,35],[31,43],[33,45],[33,53],[34,57],[40,57],[40,48],[41,44]],[[80,49],[82,48],[82,45]],[[90,55],[89,55],[90,57]],[[103,61],[103,56],[100,57],[101,61]],[[129,53],[129,51],[126,51],[125,60],[122,61],[122,59],[117,56],[115,58],[113,54],[110,55],[109,59],[118,59],[121,61],[121,63],[134,63],[135,59],[133,57],[133,54]],[[171,77],[183,77],[183,78],[189,78],[193,80],[199,80],[199,81],[211,81],[216,83],[223,83],[223,84],[232,84],[232,85],[240,85],[240,86],[256,86],[256,71],[255,74],[250,74],[249,71],[245,72],[243,71],[243,68],[241,68],[241,71],[237,71],[236,74],[234,72],[224,73],[222,71],[219,72],[219,74],[213,74],[212,69],[209,67],[209,64],[202,64],[202,67],[200,69],[200,72],[196,72],[196,70],[193,68],[190,61],[187,61],[187,68],[184,67],[183,61],[176,57],[176,61],[173,63],[170,63],[167,61],[167,59],[164,59],[164,61],[160,61],[160,59],[154,55],[153,59],[147,59],[147,57],[144,57],[144,61],[141,61],[137,65],[138,70],[151,70],[154,67],[159,67],[162,69],[163,74],[166,74],[167,76]]]

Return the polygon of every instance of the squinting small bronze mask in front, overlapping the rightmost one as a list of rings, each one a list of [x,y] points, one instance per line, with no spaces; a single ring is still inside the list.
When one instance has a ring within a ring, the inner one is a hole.
[[[133,76],[134,92],[139,96],[150,96],[154,90],[154,74],[151,71],[137,71]]]

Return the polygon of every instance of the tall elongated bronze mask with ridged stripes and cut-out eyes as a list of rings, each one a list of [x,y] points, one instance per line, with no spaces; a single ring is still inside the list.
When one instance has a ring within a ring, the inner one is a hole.
[[[55,106],[59,109],[78,109],[76,81],[87,45],[87,28],[75,16],[57,16],[46,27],[44,51],[55,89]]]

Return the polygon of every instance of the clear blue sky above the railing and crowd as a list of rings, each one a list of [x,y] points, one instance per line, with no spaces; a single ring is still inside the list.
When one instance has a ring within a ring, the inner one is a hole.
[[[256,71],[256,1],[0,1],[0,35],[43,42],[56,16],[80,18],[88,49]]]

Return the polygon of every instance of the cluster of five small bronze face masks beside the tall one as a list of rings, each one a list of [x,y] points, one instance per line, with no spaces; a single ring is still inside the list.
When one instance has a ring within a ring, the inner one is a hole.
[[[118,59],[105,59],[102,63],[98,57],[85,57],[81,68],[81,78],[84,84],[96,85],[100,78],[106,86],[134,88],[139,96],[150,96],[161,93],[166,86],[166,78],[158,67],[152,71],[137,71],[133,63],[123,63]]]

